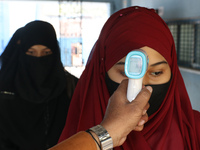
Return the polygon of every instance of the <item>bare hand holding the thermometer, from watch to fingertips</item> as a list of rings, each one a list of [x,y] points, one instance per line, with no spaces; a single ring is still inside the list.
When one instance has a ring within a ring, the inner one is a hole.
[[[113,139],[113,146],[122,145],[132,131],[141,131],[148,121],[146,113],[152,93],[150,86],[143,87],[135,100],[127,100],[128,80],[123,80],[118,89],[110,97],[107,110],[101,125]]]

